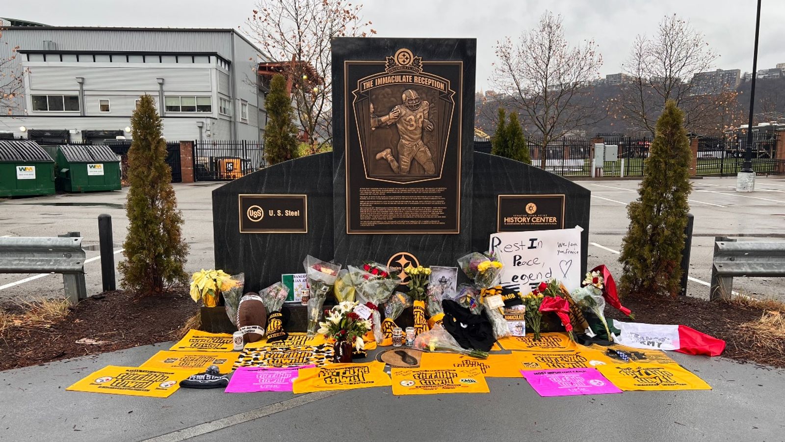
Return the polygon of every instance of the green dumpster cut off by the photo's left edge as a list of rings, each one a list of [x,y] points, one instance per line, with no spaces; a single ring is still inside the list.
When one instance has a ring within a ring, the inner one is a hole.
[[[0,197],[54,192],[54,161],[40,145],[0,140]]]

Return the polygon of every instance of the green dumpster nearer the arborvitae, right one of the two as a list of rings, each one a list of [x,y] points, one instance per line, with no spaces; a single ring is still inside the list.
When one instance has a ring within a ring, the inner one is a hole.
[[[120,190],[120,160],[108,145],[60,145],[57,185],[66,192]]]

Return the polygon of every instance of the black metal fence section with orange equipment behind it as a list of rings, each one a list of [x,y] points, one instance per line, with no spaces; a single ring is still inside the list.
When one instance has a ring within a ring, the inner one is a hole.
[[[209,140],[194,142],[196,181],[238,179],[267,167],[265,145],[257,141]]]

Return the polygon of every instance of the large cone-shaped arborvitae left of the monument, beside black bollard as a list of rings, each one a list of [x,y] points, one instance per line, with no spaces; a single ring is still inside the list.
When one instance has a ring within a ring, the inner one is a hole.
[[[161,117],[150,95],[141,96],[131,116],[131,127],[128,234],[122,245],[126,260],[118,268],[123,288],[135,293],[162,293],[174,283],[188,282],[183,270],[188,244],[182,236],[183,216],[177,210],[172,169],[166,164]]]

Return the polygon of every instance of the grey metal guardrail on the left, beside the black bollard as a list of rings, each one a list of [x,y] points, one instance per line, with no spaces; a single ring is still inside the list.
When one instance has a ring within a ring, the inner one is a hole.
[[[87,297],[81,237],[0,238],[0,273],[63,274],[65,296],[76,304]]]

